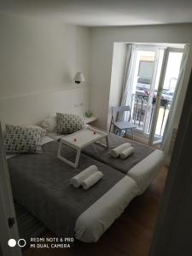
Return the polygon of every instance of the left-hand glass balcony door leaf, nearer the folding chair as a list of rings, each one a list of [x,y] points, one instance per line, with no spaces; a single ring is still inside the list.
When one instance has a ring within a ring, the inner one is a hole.
[[[148,143],[154,113],[154,96],[160,79],[163,51],[154,47],[137,47],[131,93],[131,121],[134,131]]]

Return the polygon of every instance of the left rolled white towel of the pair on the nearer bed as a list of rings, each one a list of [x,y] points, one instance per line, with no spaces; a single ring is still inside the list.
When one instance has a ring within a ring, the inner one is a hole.
[[[80,172],[78,175],[72,177],[70,179],[70,183],[75,187],[79,188],[79,186],[83,183],[84,179],[90,177],[93,173],[97,172],[98,168],[96,166],[89,166],[88,168],[84,169],[83,172]]]

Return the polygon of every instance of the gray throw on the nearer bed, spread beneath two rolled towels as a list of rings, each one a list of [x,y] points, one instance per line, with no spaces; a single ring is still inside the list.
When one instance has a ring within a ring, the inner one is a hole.
[[[64,146],[65,147],[65,146]],[[58,143],[43,146],[42,154],[20,154],[8,160],[14,199],[37,217],[57,236],[73,236],[77,218],[108,192],[124,175],[101,162],[81,154],[74,169],[55,157]],[[64,153],[63,153],[64,154]],[[73,149],[65,147],[73,159]],[[104,174],[89,190],[76,189],[69,180],[84,168],[96,165]]]

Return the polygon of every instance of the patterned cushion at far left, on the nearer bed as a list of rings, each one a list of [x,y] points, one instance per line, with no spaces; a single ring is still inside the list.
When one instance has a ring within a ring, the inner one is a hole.
[[[37,126],[6,125],[4,143],[6,152],[40,153],[41,139],[46,131]]]

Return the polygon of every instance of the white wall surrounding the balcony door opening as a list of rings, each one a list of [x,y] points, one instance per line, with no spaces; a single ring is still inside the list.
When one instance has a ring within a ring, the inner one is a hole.
[[[90,109],[99,118],[97,125],[106,129],[113,43],[192,44],[192,25],[96,27],[91,29],[90,38]],[[183,95],[178,104],[176,122],[182,110],[183,97],[188,85],[191,67],[192,51],[190,50],[188,67],[183,79]]]

